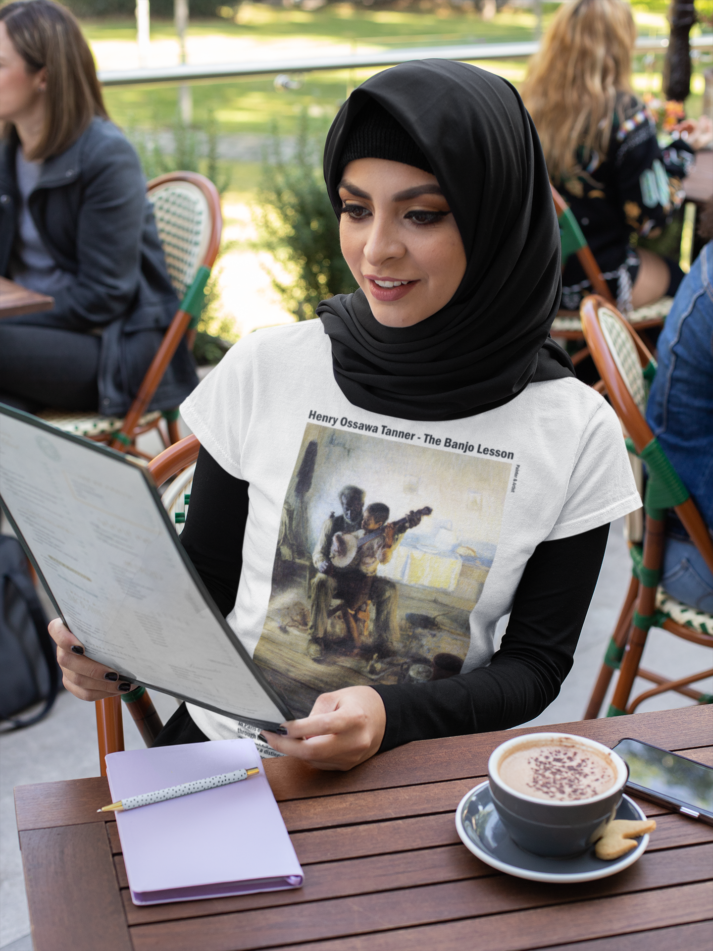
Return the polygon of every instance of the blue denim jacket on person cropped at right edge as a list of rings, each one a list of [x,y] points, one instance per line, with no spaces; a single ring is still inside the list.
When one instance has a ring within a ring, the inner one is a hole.
[[[713,528],[713,242],[679,287],[658,350],[646,421]]]

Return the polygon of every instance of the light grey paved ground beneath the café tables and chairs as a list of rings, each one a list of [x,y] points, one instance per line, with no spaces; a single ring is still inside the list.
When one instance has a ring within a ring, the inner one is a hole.
[[[559,697],[532,721],[534,724],[563,723],[581,718],[624,599],[628,579],[628,555],[622,537],[622,524],[617,522],[609,534],[607,555],[575,655],[574,668]],[[703,648],[676,640],[664,631],[654,630],[646,647],[646,667],[672,673],[681,670],[683,675],[684,671],[710,666],[706,654]],[[713,692],[710,686],[704,689]],[[160,693],[154,693],[153,697],[165,721],[176,708],[176,701]],[[687,703],[684,697],[666,694],[656,702],[648,702],[643,709],[665,709]],[[127,749],[142,746],[130,718],[125,721],[125,744]],[[31,951],[12,787],[98,775],[93,706],[63,693],[47,720],[35,727],[0,737],[0,757],[0,951]]]

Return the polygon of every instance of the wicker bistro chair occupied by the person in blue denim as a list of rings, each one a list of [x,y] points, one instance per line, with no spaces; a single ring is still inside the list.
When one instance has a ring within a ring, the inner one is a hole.
[[[712,570],[713,542],[693,499],[646,423],[648,382],[656,371],[656,364],[646,346],[621,314],[601,297],[592,295],[582,301],[581,313],[582,328],[592,358],[605,381],[611,403],[630,434],[626,448],[629,454],[643,461],[648,474],[644,496],[644,545],[635,544],[629,538],[631,583],[585,719],[591,720],[599,715],[614,670],[619,670],[619,678],[607,716],[633,713],[647,698],[668,690],[691,697],[699,704],[711,703],[713,696],[691,689],[689,685],[712,676],[713,670],[671,680],[639,666],[652,627],[663,628],[694,644],[713,647],[713,615],[689,608],[659,587],[665,547],[665,510],[672,508],[676,511]],[[655,686],[630,701],[629,695],[637,676]]]

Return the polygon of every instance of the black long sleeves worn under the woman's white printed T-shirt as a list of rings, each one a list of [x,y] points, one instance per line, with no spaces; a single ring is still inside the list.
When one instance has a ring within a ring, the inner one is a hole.
[[[247,512],[247,482],[228,475],[201,448],[181,541],[223,616],[235,606]],[[601,525],[537,546],[489,667],[425,684],[375,686],[386,708],[380,751],[411,740],[514,727],[547,708],[571,670],[608,529]]]

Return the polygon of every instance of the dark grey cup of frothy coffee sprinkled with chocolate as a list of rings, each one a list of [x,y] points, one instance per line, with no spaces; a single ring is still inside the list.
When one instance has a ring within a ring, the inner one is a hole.
[[[529,733],[494,749],[492,805],[513,842],[534,855],[581,855],[616,815],[628,779],[608,747],[569,733]]]

